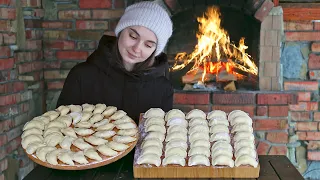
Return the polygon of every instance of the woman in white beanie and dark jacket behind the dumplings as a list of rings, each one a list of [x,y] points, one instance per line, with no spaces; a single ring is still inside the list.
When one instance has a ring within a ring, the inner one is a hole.
[[[172,109],[173,88],[165,77],[168,63],[162,53],[172,35],[167,12],[153,2],[133,4],[115,34],[104,35],[87,61],[71,69],[57,106],[104,103],[136,122],[149,108]]]

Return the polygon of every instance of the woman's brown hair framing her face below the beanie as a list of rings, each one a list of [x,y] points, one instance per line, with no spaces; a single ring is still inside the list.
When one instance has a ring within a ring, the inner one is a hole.
[[[121,34],[121,32],[119,33],[118,37],[120,37],[120,34]],[[122,59],[122,56],[121,56],[119,48],[118,48],[118,41],[119,41],[118,37],[117,37],[116,43],[113,47],[113,54],[115,57],[116,64],[120,68],[125,69],[125,67],[123,65],[123,59]],[[155,51],[145,61],[136,63],[134,65],[132,71],[130,71],[130,72],[133,74],[140,74],[143,71],[147,71],[147,70],[151,69],[155,63],[155,55],[154,54],[155,54]]]

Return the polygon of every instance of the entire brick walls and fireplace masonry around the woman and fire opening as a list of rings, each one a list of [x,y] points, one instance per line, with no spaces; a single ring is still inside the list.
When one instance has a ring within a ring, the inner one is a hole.
[[[280,6],[271,0],[156,1],[172,17],[215,4],[241,11],[259,24],[252,54],[258,61],[258,88],[176,88],[175,108],[244,110],[254,119],[259,154],[285,154],[302,173],[307,161],[320,161],[319,5],[281,0]],[[55,108],[70,69],[93,52],[104,33],[114,30],[124,8],[133,2],[0,1],[0,179],[10,179],[11,172],[22,179],[33,169],[20,147],[23,125]]]

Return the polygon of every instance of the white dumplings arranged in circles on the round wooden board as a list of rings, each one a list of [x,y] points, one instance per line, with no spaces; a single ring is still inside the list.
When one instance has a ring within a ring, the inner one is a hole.
[[[115,131],[114,128],[118,130]],[[138,129],[133,120],[126,115],[126,112],[117,110],[114,106],[107,107],[105,104],[69,105],[60,106],[56,111],[48,111],[27,122],[23,127],[21,144],[28,154],[38,152],[36,156],[42,161],[45,161],[45,156],[39,151],[41,149],[53,150],[44,147],[54,147],[54,150],[59,152],[57,154],[63,153],[61,157],[72,157],[71,154],[74,155],[74,153],[81,154],[72,152],[71,145],[83,151],[84,155],[87,154],[88,158],[93,154],[93,150],[90,149],[95,148],[105,156],[115,156],[118,154],[116,150],[123,151],[129,147],[127,143],[136,140],[137,133]],[[111,138],[112,141],[108,142],[108,138]],[[106,144],[114,148],[107,149]],[[88,155],[86,152],[92,153]],[[42,156],[39,157],[39,154]],[[91,159],[101,160],[100,156],[95,155],[92,155]],[[61,161],[73,165],[70,158],[69,161]],[[56,165],[56,161],[49,160],[48,162]],[[88,163],[88,161],[82,162]]]

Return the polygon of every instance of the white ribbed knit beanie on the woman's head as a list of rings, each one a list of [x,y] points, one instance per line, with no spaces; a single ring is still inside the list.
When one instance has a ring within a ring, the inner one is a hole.
[[[116,36],[129,26],[144,26],[157,36],[155,55],[159,55],[172,35],[172,22],[168,13],[158,4],[150,1],[128,6],[115,29]]]

